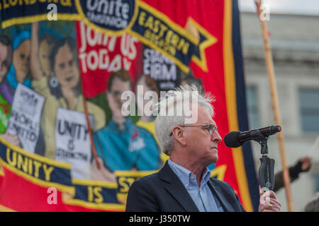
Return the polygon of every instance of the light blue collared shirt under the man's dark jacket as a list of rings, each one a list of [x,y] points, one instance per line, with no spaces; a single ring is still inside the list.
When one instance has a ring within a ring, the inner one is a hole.
[[[216,200],[207,182],[211,178],[211,171],[206,168],[201,177],[201,186],[198,187],[196,175],[192,174],[188,169],[177,165],[170,158],[167,160],[169,167],[177,174],[177,177],[184,184],[185,189],[196,204],[200,212],[223,212],[221,206],[217,206]]]

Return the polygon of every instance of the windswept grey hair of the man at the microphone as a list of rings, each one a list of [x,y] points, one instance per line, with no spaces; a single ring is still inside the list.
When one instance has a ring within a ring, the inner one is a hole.
[[[164,154],[171,155],[172,153],[174,136],[171,136],[171,133],[173,127],[185,124],[186,117],[189,117],[184,111],[181,111],[181,114],[167,114],[167,112],[174,111],[174,109],[177,111],[186,109],[192,105],[191,100],[196,98],[197,106],[206,109],[213,117],[214,110],[211,102],[214,102],[215,98],[210,93],[206,95],[202,93],[201,88],[198,90],[196,85],[181,85],[174,90],[169,90],[164,96],[161,95],[155,107],[155,109],[159,109],[159,114],[155,119],[155,133]]]

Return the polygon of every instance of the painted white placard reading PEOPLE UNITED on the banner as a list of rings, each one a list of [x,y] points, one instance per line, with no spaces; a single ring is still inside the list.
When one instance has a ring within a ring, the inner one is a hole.
[[[35,147],[40,136],[40,119],[45,97],[35,93],[21,83],[14,95],[8,132],[17,135],[21,147],[30,153],[35,153]]]

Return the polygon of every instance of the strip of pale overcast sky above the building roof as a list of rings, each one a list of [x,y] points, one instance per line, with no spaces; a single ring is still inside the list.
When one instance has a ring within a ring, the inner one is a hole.
[[[256,11],[254,0],[238,0],[241,11]],[[270,13],[306,14],[319,16],[319,0],[263,0]]]

